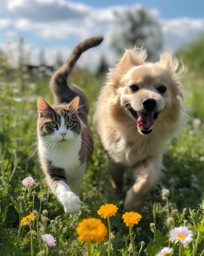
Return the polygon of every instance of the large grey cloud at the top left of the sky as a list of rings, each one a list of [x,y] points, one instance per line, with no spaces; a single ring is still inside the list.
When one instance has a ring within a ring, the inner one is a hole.
[[[82,19],[89,15],[91,7],[65,0],[7,0],[0,9],[9,17],[25,18],[37,22]]]

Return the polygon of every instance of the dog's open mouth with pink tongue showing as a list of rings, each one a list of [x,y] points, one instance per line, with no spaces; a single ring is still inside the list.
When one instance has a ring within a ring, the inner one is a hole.
[[[158,118],[158,112],[136,112],[130,105],[127,105],[130,113],[137,120],[138,127],[143,134],[149,134],[154,126],[155,119]]]

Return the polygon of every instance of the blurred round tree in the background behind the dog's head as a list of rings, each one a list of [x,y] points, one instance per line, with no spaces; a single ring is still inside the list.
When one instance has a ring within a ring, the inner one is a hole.
[[[145,9],[126,11],[121,16],[116,13],[118,25],[115,28],[112,47],[118,54],[124,49],[143,47],[147,50],[147,59],[156,58],[162,48],[162,32],[158,21]]]

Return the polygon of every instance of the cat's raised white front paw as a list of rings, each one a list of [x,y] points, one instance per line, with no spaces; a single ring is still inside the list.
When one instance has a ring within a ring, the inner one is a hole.
[[[81,203],[80,199],[78,198],[75,193],[68,192],[67,194],[64,195],[64,211],[66,213],[76,213],[81,209]]]

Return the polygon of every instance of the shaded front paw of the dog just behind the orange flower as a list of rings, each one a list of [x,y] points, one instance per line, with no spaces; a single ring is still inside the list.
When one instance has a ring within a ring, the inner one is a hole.
[[[135,193],[132,188],[129,189],[129,191],[127,191],[125,201],[123,203],[123,208],[125,211],[139,212],[142,209],[143,204],[144,204],[143,196]]]

